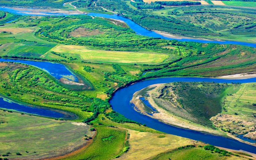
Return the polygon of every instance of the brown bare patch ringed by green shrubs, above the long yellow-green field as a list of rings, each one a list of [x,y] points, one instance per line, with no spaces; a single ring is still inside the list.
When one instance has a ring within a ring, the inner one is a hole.
[[[105,32],[102,32],[99,29],[87,29],[87,28],[79,27],[74,31],[70,32],[69,35],[73,37],[87,37],[87,36],[94,36],[94,35],[99,35],[103,33]]]

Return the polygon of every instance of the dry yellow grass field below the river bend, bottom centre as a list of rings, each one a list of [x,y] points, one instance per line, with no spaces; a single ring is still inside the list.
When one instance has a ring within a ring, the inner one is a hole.
[[[139,132],[129,130],[130,133],[130,149],[124,153],[120,159],[149,159],[160,153],[191,144],[202,144],[196,140],[174,136],[170,134],[158,134],[150,132]],[[165,136],[159,138],[158,136]]]

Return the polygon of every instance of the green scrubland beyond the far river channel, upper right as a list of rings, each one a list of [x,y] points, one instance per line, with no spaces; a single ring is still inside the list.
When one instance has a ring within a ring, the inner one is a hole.
[[[236,3],[234,1],[223,2]],[[79,4],[79,1],[77,3]],[[184,2],[171,1],[170,3]],[[255,17],[254,8],[212,5],[169,7],[164,4],[163,7],[163,5],[157,6],[156,4],[159,3],[100,0],[88,6],[83,6],[81,9],[102,12],[104,11],[103,8],[105,8],[118,12],[121,16],[133,20],[144,28],[164,31],[177,36],[196,36],[208,39],[255,43],[255,29],[248,28],[255,22],[253,18]],[[251,5],[251,7],[253,6],[254,4]]]

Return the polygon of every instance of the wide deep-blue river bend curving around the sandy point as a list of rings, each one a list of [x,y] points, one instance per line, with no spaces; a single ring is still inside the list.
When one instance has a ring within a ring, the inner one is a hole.
[[[135,111],[130,104],[130,100],[135,92],[152,84],[169,83],[169,82],[217,82],[217,83],[251,83],[256,82],[256,78],[243,79],[243,80],[225,80],[225,79],[212,79],[212,78],[192,78],[192,77],[172,77],[172,78],[157,78],[152,80],[141,81],[132,84],[128,87],[118,90],[114,95],[110,104],[116,112],[124,115],[133,121],[137,121],[141,124],[146,124],[148,127],[162,131],[165,133],[178,135],[181,137],[190,138],[193,140],[201,140],[205,143],[209,143],[218,147],[230,148],[230,149],[242,149],[247,152],[256,153],[256,147],[239,142],[225,137],[215,136],[211,134],[205,134],[202,132],[192,131],[188,129],[182,129],[174,127],[168,124],[164,124],[149,116],[140,114]]]

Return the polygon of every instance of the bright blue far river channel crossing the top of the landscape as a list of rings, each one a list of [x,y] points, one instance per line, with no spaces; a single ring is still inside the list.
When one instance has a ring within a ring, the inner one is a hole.
[[[42,14],[33,14],[31,11],[18,11],[14,10],[12,8],[8,7],[0,7],[0,10],[5,11],[5,12],[10,12],[14,14],[19,14],[19,15],[33,15],[33,16],[49,16],[49,15],[67,15],[67,14],[62,14],[62,13],[51,13],[51,12],[40,12]],[[46,14],[46,15],[45,15]],[[102,14],[102,13],[89,13],[90,16],[95,16],[95,17],[104,17],[104,18],[111,18],[115,20],[123,20],[132,30],[134,30],[138,35],[142,36],[150,36],[150,37],[156,37],[156,38],[162,38],[162,39],[167,39],[167,40],[178,40],[178,41],[191,41],[191,42],[200,42],[200,43],[218,43],[218,44],[239,44],[239,45],[245,45],[245,46],[250,46],[256,48],[256,44],[253,43],[245,43],[245,42],[236,42],[236,41],[207,41],[207,40],[200,40],[200,39],[175,39],[175,38],[169,38],[162,36],[160,34],[157,34],[154,31],[150,31],[146,28],[141,27],[140,25],[136,24],[134,21],[124,18],[122,16],[118,16],[116,14]]]

